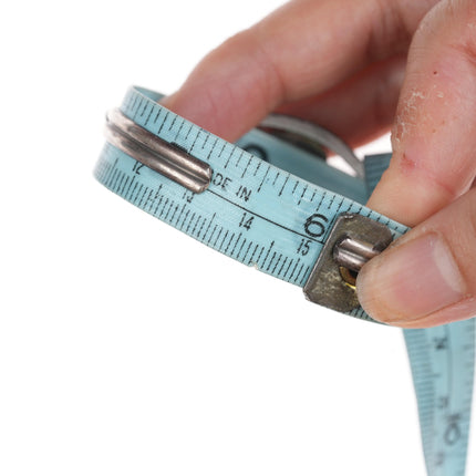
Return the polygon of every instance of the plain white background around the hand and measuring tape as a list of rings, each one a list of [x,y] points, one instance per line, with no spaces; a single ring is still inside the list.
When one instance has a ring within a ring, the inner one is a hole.
[[[400,330],[313,306],[92,176],[130,84],[173,92],[280,3],[2,7],[2,476],[424,475]]]

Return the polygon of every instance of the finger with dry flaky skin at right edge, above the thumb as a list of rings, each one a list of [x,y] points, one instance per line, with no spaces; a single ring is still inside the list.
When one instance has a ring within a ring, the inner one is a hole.
[[[413,226],[464,194],[476,173],[475,110],[476,3],[442,1],[410,49],[393,158],[369,206]]]

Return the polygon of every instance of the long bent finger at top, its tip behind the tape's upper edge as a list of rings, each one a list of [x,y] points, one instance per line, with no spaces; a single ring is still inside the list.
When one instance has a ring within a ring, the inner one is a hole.
[[[164,104],[234,141],[279,104],[322,93],[406,51],[435,2],[289,2],[208,54]]]

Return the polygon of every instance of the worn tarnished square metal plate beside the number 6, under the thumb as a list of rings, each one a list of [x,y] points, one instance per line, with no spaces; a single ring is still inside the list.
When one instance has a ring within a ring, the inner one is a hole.
[[[350,271],[359,272],[391,242],[386,226],[356,214],[339,216],[303,288],[306,297],[340,312],[358,308]]]

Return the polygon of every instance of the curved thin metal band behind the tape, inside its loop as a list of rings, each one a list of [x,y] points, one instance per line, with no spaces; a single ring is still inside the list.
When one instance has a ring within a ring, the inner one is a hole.
[[[341,156],[358,177],[363,178],[364,176],[362,162],[345,142],[317,124],[284,114],[269,114],[258,127],[310,151],[318,157],[325,158],[323,151],[325,147]]]

